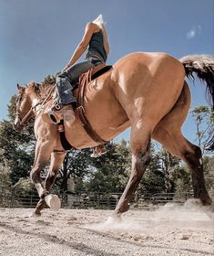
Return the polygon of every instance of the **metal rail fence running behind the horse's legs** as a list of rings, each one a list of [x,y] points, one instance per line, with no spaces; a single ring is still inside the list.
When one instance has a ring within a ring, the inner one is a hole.
[[[63,194],[59,195],[62,207],[64,208],[108,208],[116,207],[121,194],[119,193],[82,193],[82,194]],[[159,204],[168,202],[182,204],[189,198],[192,193],[161,193],[155,195],[136,195],[132,201],[130,208],[155,208]],[[34,208],[39,200],[35,195],[25,197],[11,195],[0,195],[0,207],[5,208]]]

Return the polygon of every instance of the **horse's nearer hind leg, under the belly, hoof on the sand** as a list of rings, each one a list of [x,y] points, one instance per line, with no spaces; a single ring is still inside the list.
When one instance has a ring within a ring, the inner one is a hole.
[[[143,176],[150,160],[150,131],[143,127],[142,123],[133,123],[131,128],[131,151],[132,151],[132,170],[127,187],[122,197],[120,197],[115,214],[118,216],[129,208],[131,197],[135,193],[138,184]]]

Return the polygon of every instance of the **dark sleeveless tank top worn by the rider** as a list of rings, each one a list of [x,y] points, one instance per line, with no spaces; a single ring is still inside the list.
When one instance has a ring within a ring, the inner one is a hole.
[[[92,35],[89,42],[88,51],[97,51],[103,57],[105,62],[107,61],[107,53],[104,48],[103,33],[101,30]]]

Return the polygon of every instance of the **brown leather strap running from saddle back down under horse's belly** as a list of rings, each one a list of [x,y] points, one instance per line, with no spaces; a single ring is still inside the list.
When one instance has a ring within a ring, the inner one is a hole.
[[[100,65],[102,65],[101,69],[105,67],[105,64],[103,63]],[[92,128],[91,124],[88,122],[86,112],[84,109],[84,94],[86,91],[87,84],[91,81],[92,74],[100,69],[99,65],[95,69],[89,69],[87,73],[84,73],[80,76],[76,111],[78,112],[81,123],[83,123],[85,131],[92,138],[92,140],[95,141],[97,144],[107,144],[108,142],[103,140]]]

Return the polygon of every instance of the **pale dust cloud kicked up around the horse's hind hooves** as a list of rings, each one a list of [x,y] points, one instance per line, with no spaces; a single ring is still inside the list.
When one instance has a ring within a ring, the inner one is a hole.
[[[189,199],[184,205],[168,203],[154,211],[129,211],[121,219],[108,218],[105,222],[89,224],[87,228],[140,233],[164,233],[166,229],[214,229],[214,213],[199,200]]]

